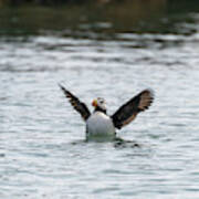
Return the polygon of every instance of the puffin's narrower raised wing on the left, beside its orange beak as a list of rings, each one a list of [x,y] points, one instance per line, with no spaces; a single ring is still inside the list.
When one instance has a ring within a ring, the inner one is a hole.
[[[74,96],[71,92],[65,90],[65,87],[63,87],[60,84],[59,84],[59,86],[63,91],[64,95],[69,98],[69,101],[70,101],[71,105],[74,107],[74,109],[76,109],[81,114],[82,118],[84,121],[86,121],[91,115],[87,106],[84,103],[82,103],[76,96]]]

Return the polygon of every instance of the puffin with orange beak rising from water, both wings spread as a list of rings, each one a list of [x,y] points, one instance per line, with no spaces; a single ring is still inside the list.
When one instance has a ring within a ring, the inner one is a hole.
[[[134,121],[140,112],[148,109],[154,101],[154,92],[144,90],[128,102],[123,104],[112,116],[107,115],[106,103],[102,97],[92,102],[93,113],[90,112],[85,103],[81,102],[74,94],[59,84],[65,97],[73,108],[78,112],[86,123],[86,138],[111,138],[116,136],[116,128],[121,129]]]

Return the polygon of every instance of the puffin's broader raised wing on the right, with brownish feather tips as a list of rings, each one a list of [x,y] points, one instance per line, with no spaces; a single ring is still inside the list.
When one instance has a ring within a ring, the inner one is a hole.
[[[150,90],[144,90],[127,103],[121,106],[113,115],[112,119],[116,128],[129,124],[136,115],[147,109],[154,101],[154,93]]]

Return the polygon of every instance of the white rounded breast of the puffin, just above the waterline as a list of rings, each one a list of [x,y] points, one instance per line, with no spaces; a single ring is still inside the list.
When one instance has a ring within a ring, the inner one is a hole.
[[[109,116],[95,112],[86,123],[88,136],[115,136],[115,127]]]

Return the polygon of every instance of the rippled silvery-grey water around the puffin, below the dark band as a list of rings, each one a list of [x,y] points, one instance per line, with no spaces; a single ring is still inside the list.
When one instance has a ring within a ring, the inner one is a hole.
[[[4,28],[0,198],[199,197],[199,13],[184,10],[188,20],[180,21],[181,12],[161,13],[174,32],[137,25],[113,34],[114,22],[103,23],[111,33],[101,23],[103,38],[92,28],[87,38],[82,30],[10,35]],[[86,143],[85,124],[57,83],[90,108],[96,96],[106,98],[109,114],[146,87],[155,102],[118,130],[125,144]]]

